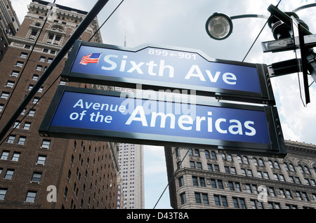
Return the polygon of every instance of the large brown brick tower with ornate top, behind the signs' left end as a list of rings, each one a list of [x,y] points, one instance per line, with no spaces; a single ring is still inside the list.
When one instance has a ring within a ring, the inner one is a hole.
[[[48,4],[32,0],[18,32],[6,36],[9,44],[0,63],[1,129],[87,14],[60,5],[48,13]],[[88,41],[97,30],[96,18],[81,40]],[[92,41],[102,42],[100,33]],[[0,208],[116,208],[117,144],[39,136],[55,90],[66,84],[59,79],[66,60],[67,55],[0,142]]]

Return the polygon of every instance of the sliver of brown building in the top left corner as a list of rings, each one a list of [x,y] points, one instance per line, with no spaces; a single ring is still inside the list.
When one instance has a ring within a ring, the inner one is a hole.
[[[7,36],[15,36],[20,27],[15,11],[12,8],[10,0],[0,1],[0,61],[8,48],[9,42]]]

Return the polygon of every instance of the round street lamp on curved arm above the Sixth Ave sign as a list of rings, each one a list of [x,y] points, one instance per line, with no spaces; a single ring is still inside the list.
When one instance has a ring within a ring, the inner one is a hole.
[[[255,15],[255,14],[249,14],[249,15],[236,15],[229,17],[228,15],[225,15],[223,13],[214,13],[209,17],[209,19],[206,21],[206,32],[211,36],[212,39],[216,40],[223,40],[228,38],[230,34],[232,34],[232,20],[239,19],[239,18],[265,18],[265,15]]]

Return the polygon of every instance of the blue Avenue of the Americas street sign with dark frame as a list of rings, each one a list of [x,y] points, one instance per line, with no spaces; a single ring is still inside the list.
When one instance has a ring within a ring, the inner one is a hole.
[[[286,154],[275,107],[152,100],[138,93],[65,86],[58,87],[39,133],[162,146],[215,145],[266,156]]]

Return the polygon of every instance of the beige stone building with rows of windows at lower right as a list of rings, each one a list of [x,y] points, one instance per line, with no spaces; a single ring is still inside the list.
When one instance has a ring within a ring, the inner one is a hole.
[[[165,147],[171,207],[316,208],[316,146],[291,141],[286,146],[285,158]]]

